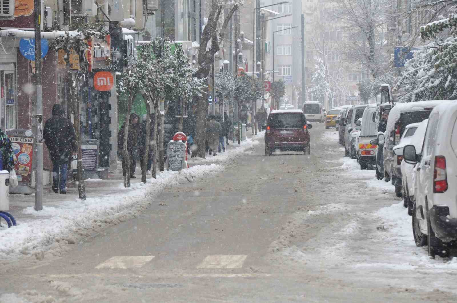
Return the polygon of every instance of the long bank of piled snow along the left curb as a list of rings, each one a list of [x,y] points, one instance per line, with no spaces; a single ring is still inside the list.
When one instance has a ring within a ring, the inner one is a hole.
[[[233,160],[258,143],[248,139],[223,159],[220,157],[219,161]],[[22,213],[32,215],[32,219],[22,220],[12,228],[0,229],[0,258],[37,255],[43,254],[43,251],[53,251],[54,255],[58,255],[65,250],[67,243],[74,243],[79,236],[90,235],[90,230],[100,230],[107,224],[117,224],[138,214],[152,204],[154,195],[166,186],[194,182],[197,178],[223,171],[224,167],[220,164],[195,165],[181,172],[161,172],[157,179],[150,178],[146,184],[133,183],[131,188],[123,188],[123,184],[112,187],[117,194],[103,198],[75,199],[62,202],[58,207],[44,206],[39,212],[27,207]],[[119,195],[120,189],[122,194]]]

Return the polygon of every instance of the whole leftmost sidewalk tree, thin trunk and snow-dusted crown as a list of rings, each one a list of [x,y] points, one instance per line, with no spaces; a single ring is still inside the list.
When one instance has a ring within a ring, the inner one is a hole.
[[[72,111],[74,114],[74,129],[77,145],[78,157],[78,195],[79,198],[85,200],[85,184],[84,184],[84,169],[82,163],[81,151],[81,127],[80,127],[80,89],[82,89],[82,78],[88,75],[89,63],[86,60],[85,53],[90,49],[87,41],[91,38],[105,40],[106,30],[101,24],[86,23],[80,19],[75,20],[78,25],[74,31],[66,31],[64,35],[55,38],[50,46],[56,52],[63,50],[65,52],[64,60],[69,66],[70,52],[76,53],[79,56],[79,69],[70,72],[69,78],[72,85],[69,85],[69,95],[71,99]]]

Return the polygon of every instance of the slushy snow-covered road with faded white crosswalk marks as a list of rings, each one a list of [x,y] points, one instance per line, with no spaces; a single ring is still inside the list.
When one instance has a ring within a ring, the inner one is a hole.
[[[430,260],[390,183],[314,124],[311,155],[263,140],[135,219],[2,276],[0,302],[455,302],[457,259]]]

